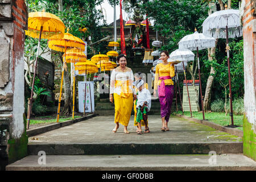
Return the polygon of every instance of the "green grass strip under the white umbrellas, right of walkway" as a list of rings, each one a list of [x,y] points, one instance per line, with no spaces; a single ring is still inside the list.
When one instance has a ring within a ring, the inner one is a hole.
[[[176,112],[175,112],[176,113]],[[178,114],[182,114],[182,111],[178,111]],[[189,111],[184,111],[184,115],[187,117],[190,117]],[[193,118],[196,119],[203,119],[203,113],[198,113],[196,111],[192,112]],[[225,115],[225,113],[204,113],[205,119],[208,119],[210,122],[217,123],[221,126],[227,126],[231,125],[231,118],[228,115]],[[240,127],[236,127],[238,130],[243,130],[243,115],[234,115],[234,125],[238,125]]]

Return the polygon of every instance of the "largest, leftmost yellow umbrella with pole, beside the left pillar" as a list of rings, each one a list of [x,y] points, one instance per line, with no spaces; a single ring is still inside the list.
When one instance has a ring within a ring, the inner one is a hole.
[[[35,84],[35,75],[36,68],[38,65],[38,55],[41,39],[49,38],[62,38],[65,32],[64,23],[56,15],[51,13],[46,13],[43,11],[31,12],[28,13],[28,30],[25,30],[26,35],[31,36],[32,38],[37,38],[38,40],[38,49],[36,52],[35,60],[35,69],[34,76],[32,81],[31,96],[28,99],[28,114],[27,114],[27,129],[30,126],[30,113],[32,109],[32,98],[34,94],[34,84]]]

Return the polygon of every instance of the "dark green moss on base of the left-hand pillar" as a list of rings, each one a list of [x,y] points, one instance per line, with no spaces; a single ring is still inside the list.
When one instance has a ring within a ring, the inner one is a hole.
[[[27,120],[26,120],[25,114],[23,114],[23,123],[24,123],[24,133],[22,134],[22,137],[18,139],[8,140],[9,164],[27,156],[28,137],[26,132]]]

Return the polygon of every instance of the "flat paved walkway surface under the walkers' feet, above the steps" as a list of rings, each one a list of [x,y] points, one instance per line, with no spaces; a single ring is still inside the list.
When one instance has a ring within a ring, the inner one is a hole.
[[[112,133],[114,116],[97,116],[70,126],[52,130],[29,138],[29,143],[229,143],[242,142],[242,138],[217,131],[199,123],[171,116],[170,131],[160,131],[162,121],[159,115],[148,116],[150,133],[138,135],[131,117],[128,130],[123,133],[120,125],[117,133]],[[38,138],[35,140],[33,138]]]

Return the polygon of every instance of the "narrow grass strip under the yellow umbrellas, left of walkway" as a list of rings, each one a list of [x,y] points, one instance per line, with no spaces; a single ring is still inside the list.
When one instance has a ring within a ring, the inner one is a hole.
[[[75,115],[75,118],[81,118],[79,115]],[[59,122],[64,122],[68,120],[72,120],[72,117],[65,117],[65,116],[60,116],[59,117]],[[40,123],[55,123],[56,122],[56,117],[52,116],[42,116],[42,117],[36,117],[34,119],[30,120],[30,124],[40,124]]]

